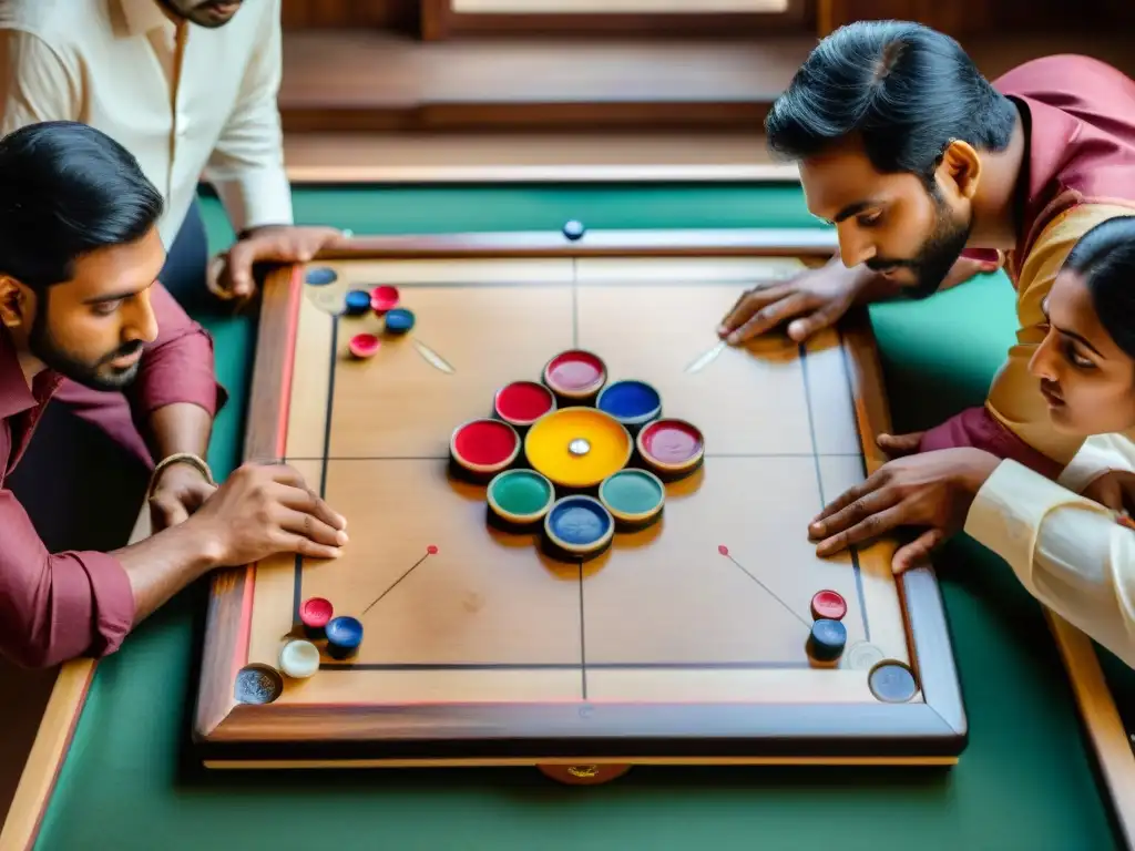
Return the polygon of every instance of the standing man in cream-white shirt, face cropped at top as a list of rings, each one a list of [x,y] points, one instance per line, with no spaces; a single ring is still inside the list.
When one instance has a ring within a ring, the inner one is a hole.
[[[66,119],[111,136],[166,199],[166,288],[183,303],[207,281],[246,297],[254,262],[302,260],[338,236],[294,227],[280,44],[280,0],[0,0],[0,135]],[[211,264],[202,177],[238,236]]]

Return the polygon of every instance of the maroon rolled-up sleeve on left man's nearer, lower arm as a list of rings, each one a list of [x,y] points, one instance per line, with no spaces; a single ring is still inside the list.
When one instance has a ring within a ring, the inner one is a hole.
[[[134,623],[134,592],[104,553],[50,554],[10,490],[0,490],[0,652],[49,667],[119,648]]]

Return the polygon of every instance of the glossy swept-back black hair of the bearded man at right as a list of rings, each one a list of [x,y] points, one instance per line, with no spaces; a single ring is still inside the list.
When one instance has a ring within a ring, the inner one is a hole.
[[[1009,144],[1017,111],[948,35],[902,20],[840,27],[812,51],[765,120],[768,145],[813,157],[857,134],[883,174],[930,182],[951,141]]]

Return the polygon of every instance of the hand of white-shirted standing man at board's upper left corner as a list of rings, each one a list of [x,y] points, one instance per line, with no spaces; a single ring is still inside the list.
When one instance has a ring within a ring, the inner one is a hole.
[[[323,247],[345,239],[328,227],[269,226],[238,239],[209,264],[209,289],[219,298],[249,298],[255,292],[254,263],[306,263]]]

